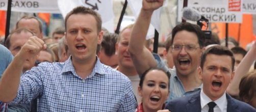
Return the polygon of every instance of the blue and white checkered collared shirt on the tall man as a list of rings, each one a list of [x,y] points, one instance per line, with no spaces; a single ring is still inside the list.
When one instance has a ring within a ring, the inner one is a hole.
[[[15,103],[39,98],[38,111],[135,111],[131,81],[101,64],[82,79],[71,58],[64,63],[41,63],[21,76]]]

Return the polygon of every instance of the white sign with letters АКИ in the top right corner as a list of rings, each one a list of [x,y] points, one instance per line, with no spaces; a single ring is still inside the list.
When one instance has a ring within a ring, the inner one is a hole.
[[[247,14],[256,14],[256,0],[243,0],[242,12]]]

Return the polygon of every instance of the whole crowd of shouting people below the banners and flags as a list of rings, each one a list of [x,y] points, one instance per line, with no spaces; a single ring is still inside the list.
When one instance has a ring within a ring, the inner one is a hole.
[[[184,22],[152,53],[146,34],[163,2],[143,0],[119,34],[82,6],[49,37],[38,18],[20,18],[0,45],[0,111],[256,111],[256,43],[225,47]]]

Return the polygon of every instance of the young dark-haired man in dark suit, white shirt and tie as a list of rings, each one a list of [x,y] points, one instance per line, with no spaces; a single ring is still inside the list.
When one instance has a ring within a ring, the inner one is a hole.
[[[235,58],[224,46],[213,46],[201,55],[198,68],[203,85],[200,92],[167,103],[166,109],[175,111],[256,111],[252,106],[238,101],[226,93],[234,77]]]

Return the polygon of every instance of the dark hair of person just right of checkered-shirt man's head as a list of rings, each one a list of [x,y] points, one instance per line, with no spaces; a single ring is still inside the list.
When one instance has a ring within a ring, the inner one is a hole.
[[[103,41],[101,42],[101,48],[105,50],[106,55],[111,57],[116,51],[117,34],[105,33],[103,35]]]

